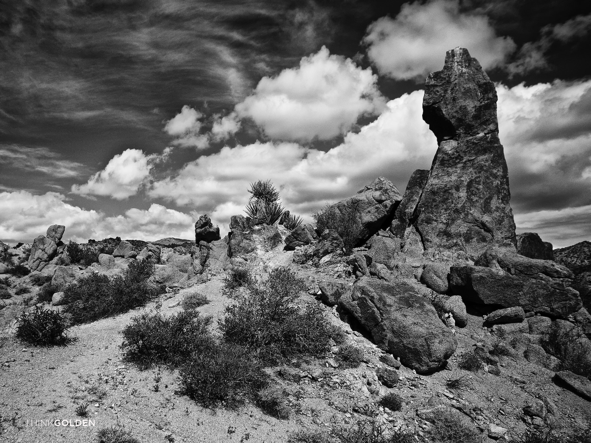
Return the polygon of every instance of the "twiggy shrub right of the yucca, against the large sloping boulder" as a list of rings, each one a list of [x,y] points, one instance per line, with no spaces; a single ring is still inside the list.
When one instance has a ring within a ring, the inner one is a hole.
[[[343,239],[347,252],[357,246],[356,242],[361,232],[358,203],[350,202],[338,208],[336,205],[327,203],[320,211],[313,211],[312,217],[316,220],[317,232],[322,233],[326,229],[335,230]]]

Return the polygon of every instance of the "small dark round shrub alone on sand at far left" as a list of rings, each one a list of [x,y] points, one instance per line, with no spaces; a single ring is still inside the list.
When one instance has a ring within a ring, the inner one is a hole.
[[[17,337],[31,344],[64,344],[67,329],[67,321],[61,314],[37,308],[18,318]]]

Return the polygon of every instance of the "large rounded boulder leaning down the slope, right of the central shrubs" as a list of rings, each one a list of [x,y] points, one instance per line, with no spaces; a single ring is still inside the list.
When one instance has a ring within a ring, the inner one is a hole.
[[[456,338],[435,308],[405,281],[390,284],[363,277],[340,297],[339,305],[371,333],[379,348],[417,372],[443,366],[456,350]]]

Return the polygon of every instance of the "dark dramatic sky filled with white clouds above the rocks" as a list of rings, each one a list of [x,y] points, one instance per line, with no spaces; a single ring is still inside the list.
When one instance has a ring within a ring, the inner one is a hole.
[[[424,80],[496,84],[517,232],[591,240],[591,3],[0,0],[0,240],[222,233],[249,183],[291,213],[430,168]]]

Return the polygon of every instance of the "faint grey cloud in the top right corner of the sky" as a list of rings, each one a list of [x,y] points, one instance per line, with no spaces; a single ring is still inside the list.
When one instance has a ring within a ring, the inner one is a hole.
[[[540,30],[540,38],[528,41],[517,53],[515,61],[506,66],[510,76],[524,75],[530,72],[543,71],[550,68],[547,52],[553,43],[569,43],[584,37],[591,31],[591,14],[577,15],[564,23],[546,25]]]

